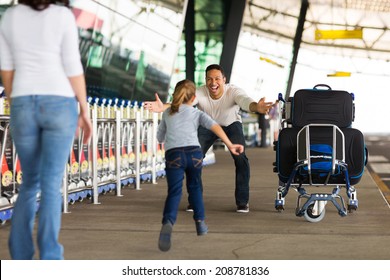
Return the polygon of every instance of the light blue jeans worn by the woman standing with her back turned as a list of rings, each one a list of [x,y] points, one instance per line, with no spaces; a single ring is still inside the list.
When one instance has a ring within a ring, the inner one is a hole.
[[[62,215],[61,185],[77,128],[75,98],[29,95],[11,104],[11,135],[23,182],[11,218],[9,249],[13,259],[33,259],[33,229],[38,210],[40,259],[63,259],[58,242]]]

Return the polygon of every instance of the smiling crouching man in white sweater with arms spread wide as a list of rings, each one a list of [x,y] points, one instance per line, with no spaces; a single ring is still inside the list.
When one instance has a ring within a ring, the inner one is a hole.
[[[245,146],[240,109],[267,114],[274,103],[265,102],[265,98],[256,102],[243,89],[227,84],[223,68],[218,64],[212,64],[206,68],[206,84],[196,89],[196,99],[193,105],[196,105],[199,110],[210,115],[221,125],[233,143]],[[163,104],[157,94],[156,101],[145,102],[145,108],[154,112],[162,112],[167,106],[169,104]],[[203,155],[218,139],[212,131],[203,127],[198,129],[198,138]],[[245,151],[239,155],[232,154],[232,157],[236,167],[235,201],[237,212],[247,213],[249,212],[249,160]],[[192,209],[191,205],[188,206],[188,210],[190,209]]]

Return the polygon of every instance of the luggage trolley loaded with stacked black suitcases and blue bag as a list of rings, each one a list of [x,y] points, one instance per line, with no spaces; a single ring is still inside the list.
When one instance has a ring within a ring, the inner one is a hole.
[[[326,89],[320,89],[326,87]],[[279,188],[275,208],[284,210],[290,188],[299,195],[295,214],[309,222],[325,217],[327,202],[346,216],[358,208],[354,187],[363,175],[367,149],[363,134],[351,128],[354,119],[354,96],[332,90],[327,85],[298,90],[282,101],[281,130],[274,142]],[[333,187],[332,191],[309,193],[309,187]],[[348,204],[340,194],[345,188]]]

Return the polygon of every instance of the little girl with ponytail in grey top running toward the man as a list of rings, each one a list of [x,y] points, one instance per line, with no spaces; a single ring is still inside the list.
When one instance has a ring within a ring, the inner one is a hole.
[[[171,234],[176,222],[182,195],[184,174],[186,176],[189,202],[194,208],[194,220],[198,235],[207,234],[205,210],[201,190],[203,153],[198,141],[198,127],[214,132],[226,144],[232,154],[238,155],[244,147],[232,144],[219,124],[209,115],[194,108],[195,84],[182,80],[176,84],[171,107],[164,111],[158,126],[157,139],[165,143],[166,177],[168,195],[162,219],[158,246],[161,251],[171,247]]]

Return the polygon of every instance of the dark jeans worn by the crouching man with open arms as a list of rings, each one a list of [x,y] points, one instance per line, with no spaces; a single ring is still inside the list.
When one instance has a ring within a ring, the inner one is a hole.
[[[241,144],[245,147],[245,136],[241,122],[234,122],[229,126],[222,126],[222,129],[225,131],[226,135],[233,144]],[[202,147],[203,155],[206,155],[207,151],[218,139],[218,136],[215,135],[211,130],[200,126],[198,128],[198,138]],[[238,156],[232,154],[232,157],[236,166],[236,205],[244,206],[249,202],[249,160],[245,154],[245,151]]]

